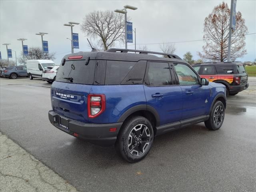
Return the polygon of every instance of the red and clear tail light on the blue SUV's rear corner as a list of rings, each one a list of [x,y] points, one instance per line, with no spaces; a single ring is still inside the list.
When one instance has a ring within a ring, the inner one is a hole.
[[[106,108],[106,98],[104,94],[89,94],[87,98],[88,117],[98,117]]]

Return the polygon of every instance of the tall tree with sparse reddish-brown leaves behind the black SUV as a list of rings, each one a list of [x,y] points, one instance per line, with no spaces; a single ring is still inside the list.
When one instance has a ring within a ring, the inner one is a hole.
[[[202,58],[226,61],[228,57],[228,32],[230,21],[230,9],[228,4],[222,2],[215,6],[204,20],[204,42],[203,53],[198,53]],[[248,32],[242,14],[236,13],[236,29],[232,32],[230,59],[246,54],[245,34]]]

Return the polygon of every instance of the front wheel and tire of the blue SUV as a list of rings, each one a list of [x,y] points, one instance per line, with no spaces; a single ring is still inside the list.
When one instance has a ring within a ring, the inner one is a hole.
[[[225,117],[225,107],[221,101],[216,101],[210,112],[210,118],[204,122],[205,126],[210,130],[218,130]]]

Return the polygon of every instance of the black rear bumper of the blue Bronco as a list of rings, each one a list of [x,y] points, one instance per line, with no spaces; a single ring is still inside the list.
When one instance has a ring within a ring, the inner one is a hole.
[[[78,134],[78,138],[82,138],[90,143],[100,146],[110,146],[115,144],[118,132],[122,126],[122,122],[109,124],[86,124],[84,122],[68,119],[68,129],[60,126],[60,115],[50,110],[48,117],[52,125],[56,128],[74,136]],[[117,128],[115,132],[109,132],[110,128]]]

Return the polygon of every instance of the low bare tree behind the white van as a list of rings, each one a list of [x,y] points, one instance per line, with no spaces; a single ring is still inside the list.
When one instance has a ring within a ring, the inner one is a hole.
[[[32,47],[28,50],[28,55],[25,55],[25,62],[26,60],[31,59],[47,59],[47,60],[54,60],[55,59],[55,53],[44,53],[42,51],[42,48],[40,47]],[[25,64],[23,60],[23,54],[20,52],[20,56],[18,57],[18,62]]]

